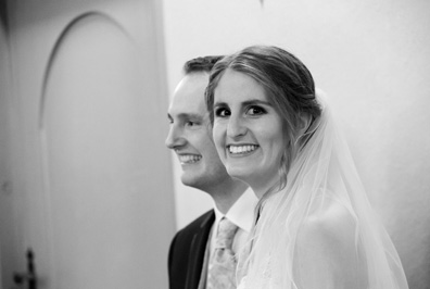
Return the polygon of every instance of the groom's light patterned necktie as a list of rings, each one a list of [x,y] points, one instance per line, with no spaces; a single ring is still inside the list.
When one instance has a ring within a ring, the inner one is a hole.
[[[231,244],[237,230],[238,226],[227,218],[223,217],[219,221],[215,250],[207,268],[206,289],[236,288],[236,256]]]

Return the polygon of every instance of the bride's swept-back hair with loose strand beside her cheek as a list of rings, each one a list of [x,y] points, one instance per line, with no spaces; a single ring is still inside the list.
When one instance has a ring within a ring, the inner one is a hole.
[[[302,141],[303,133],[321,114],[311,72],[293,54],[277,47],[252,46],[219,60],[211,72],[206,88],[206,106],[212,123],[215,89],[227,70],[243,73],[255,79],[281,116],[287,143],[280,160],[280,180],[276,186],[281,189],[286,186],[291,162],[308,139],[307,137]]]

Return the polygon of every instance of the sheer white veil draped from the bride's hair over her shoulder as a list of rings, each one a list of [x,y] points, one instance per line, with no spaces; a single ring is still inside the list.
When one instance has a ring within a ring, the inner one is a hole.
[[[408,288],[321,91],[317,99],[322,114],[299,140],[287,186],[263,202],[239,254],[239,288]]]

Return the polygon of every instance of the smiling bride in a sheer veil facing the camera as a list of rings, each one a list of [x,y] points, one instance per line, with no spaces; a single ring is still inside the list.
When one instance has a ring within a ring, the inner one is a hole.
[[[408,288],[330,108],[299,59],[245,48],[216,63],[206,102],[227,172],[260,198],[239,254],[239,288]]]

